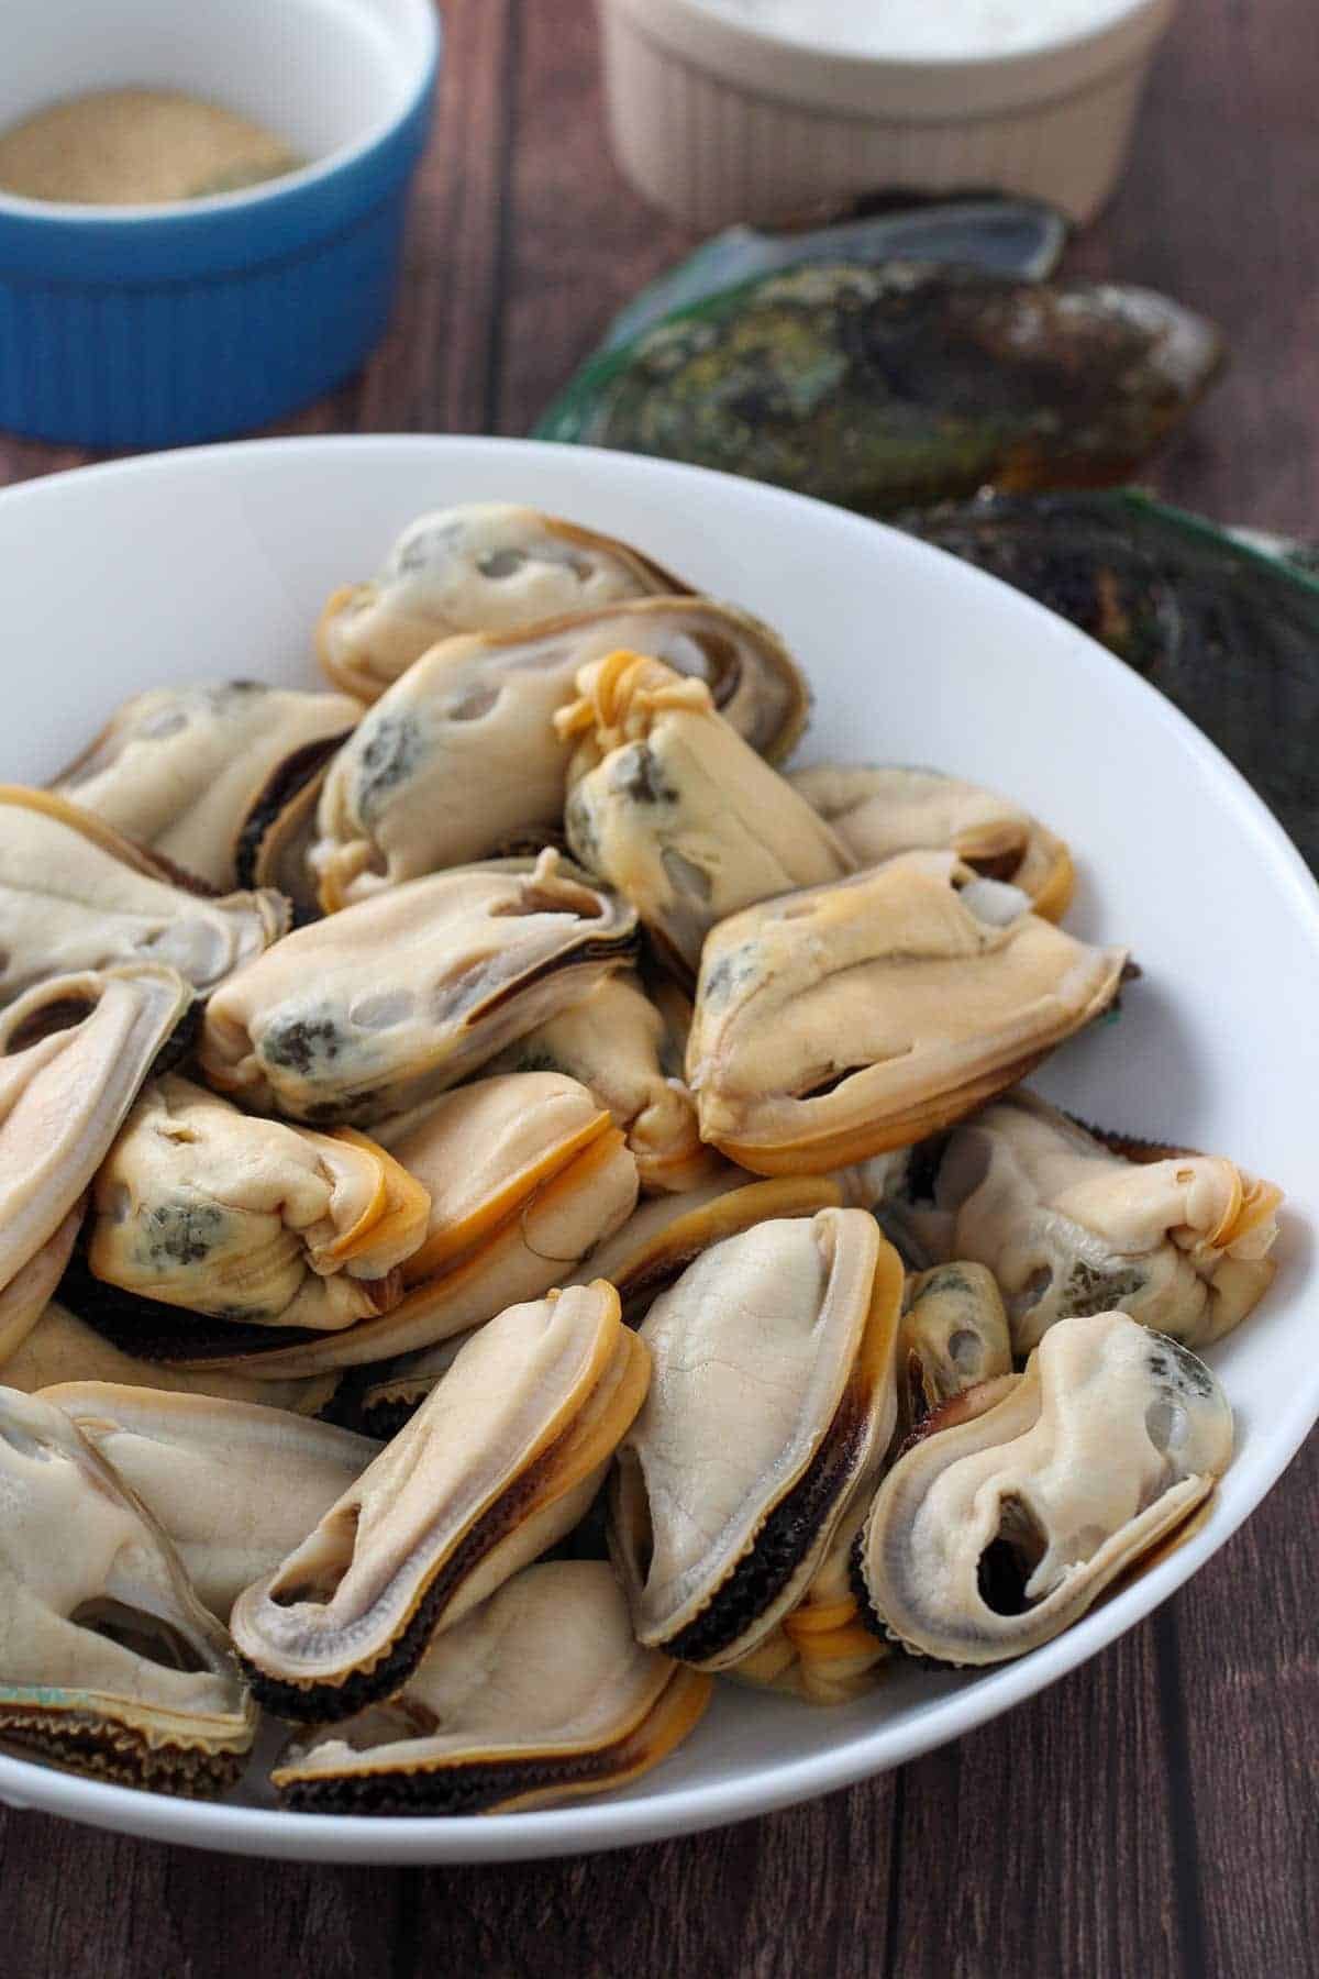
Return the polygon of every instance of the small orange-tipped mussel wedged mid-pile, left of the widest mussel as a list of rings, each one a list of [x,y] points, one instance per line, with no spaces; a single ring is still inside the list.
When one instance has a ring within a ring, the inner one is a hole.
[[[682,1053],[631,974],[607,976],[500,1053],[490,1071],[579,1079],[627,1136],[647,1195],[694,1189],[720,1166],[700,1140]]]

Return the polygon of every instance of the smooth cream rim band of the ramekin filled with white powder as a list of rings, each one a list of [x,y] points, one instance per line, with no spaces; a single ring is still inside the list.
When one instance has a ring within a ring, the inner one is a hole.
[[[1143,59],[1177,0],[1127,0],[1098,28],[1007,55],[864,55],[787,40],[702,0],[599,0],[668,53],[751,95],[850,117],[961,123],[1064,99]]]

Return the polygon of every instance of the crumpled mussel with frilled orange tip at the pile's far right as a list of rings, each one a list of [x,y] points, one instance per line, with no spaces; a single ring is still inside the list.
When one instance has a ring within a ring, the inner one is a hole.
[[[1058,1320],[1111,1308],[1210,1346],[1274,1280],[1279,1203],[1224,1156],[1109,1146],[1011,1092],[949,1136],[933,1205],[910,1215],[937,1257],[993,1271],[1024,1356]]]

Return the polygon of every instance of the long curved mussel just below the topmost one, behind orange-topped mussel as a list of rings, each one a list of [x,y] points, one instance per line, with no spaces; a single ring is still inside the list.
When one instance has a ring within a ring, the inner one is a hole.
[[[627,645],[704,681],[759,754],[777,760],[795,742],[809,695],[791,655],[769,627],[708,598],[643,598],[530,633],[443,639],[328,770],[308,849],[324,910],[552,841],[573,754],[554,714],[583,665]]]

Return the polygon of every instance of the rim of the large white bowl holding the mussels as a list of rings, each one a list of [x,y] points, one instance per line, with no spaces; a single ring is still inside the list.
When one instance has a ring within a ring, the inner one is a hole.
[[[1268,861],[1279,887],[1291,895],[1297,916],[1307,924],[1319,964],[1319,883],[1264,800],[1188,716],[1175,708],[1149,681],[1123,667],[1119,659],[1086,633],[1058,619],[1032,598],[1014,592],[999,578],[961,564],[931,544],[906,536],[886,524],[872,522],[866,517],[835,509],[829,503],[761,483],[740,481],[738,477],[704,467],[609,453],[597,447],[570,447],[552,441],[494,439],[484,435],[372,433],[249,439],[67,469],[0,491],[0,518],[8,513],[4,505],[12,509],[18,503],[57,503],[69,475],[79,477],[81,483],[89,483],[93,477],[95,481],[105,479],[113,489],[131,477],[168,477],[178,467],[190,473],[196,471],[198,463],[208,459],[241,463],[243,459],[263,455],[285,455],[307,457],[308,463],[314,463],[332,453],[362,459],[366,453],[390,457],[403,451],[431,453],[437,463],[445,459],[461,463],[473,457],[504,459],[508,461],[510,485],[516,483],[516,463],[520,459],[560,457],[564,467],[570,469],[570,479],[589,479],[591,471],[599,469],[621,481],[645,487],[649,497],[664,497],[664,491],[670,491],[678,505],[686,497],[686,507],[694,507],[698,513],[704,505],[700,501],[690,503],[694,489],[700,493],[702,487],[708,487],[712,495],[718,495],[720,487],[736,485],[742,497],[765,509],[767,518],[773,518],[775,511],[791,518],[807,503],[813,511],[825,511],[831,517],[831,526],[854,530],[858,544],[874,540],[874,532],[878,532],[888,540],[888,554],[892,556],[925,566],[937,560],[945,570],[959,572],[959,584],[981,592],[991,588],[999,594],[1001,602],[1003,598],[1011,598],[1011,610],[1020,615],[1022,627],[1034,623],[1042,635],[1046,629],[1046,637],[1058,649],[1068,649],[1072,665],[1090,677],[1105,677],[1119,697],[1141,710],[1141,718],[1159,724],[1171,742],[1187,750],[1214,778],[1220,801],[1230,807],[1234,823],[1258,843],[1260,855]],[[206,467],[202,471],[206,473]],[[53,1771],[40,1761],[0,1753],[0,1801],[24,1809],[40,1807],[47,1813],[93,1821],[99,1827],[119,1833],[198,1848],[293,1860],[396,1864],[564,1856],[631,1846],[639,1840],[659,1840],[771,1813],[795,1801],[813,1799],[858,1779],[872,1777],[935,1745],[961,1738],[1001,1712],[1011,1710],[1014,1704],[1024,1702],[1028,1696],[1034,1696],[1038,1690],[1048,1688],[1082,1662],[1088,1662],[1135,1621],[1153,1613],[1155,1607],[1185,1585],[1232,1538],[1266,1492],[1274,1488],[1317,1417],[1319,1360],[1309,1367],[1297,1369],[1295,1381],[1287,1385],[1285,1393],[1279,1393],[1266,1451],[1256,1461],[1254,1474],[1242,1482],[1240,1502],[1228,1510],[1226,1524],[1220,1518],[1218,1522],[1208,1520],[1190,1530],[1181,1546],[1157,1559],[1135,1581],[1119,1587],[1109,1599],[1084,1615],[1080,1623],[1042,1649],[1032,1650],[1016,1662],[979,1672],[975,1682],[959,1690],[918,1704],[898,1724],[892,1720],[878,1722],[874,1730],[856,1734],[838,1751],[813,1753],[791,1761],[767,1759],[763,1765],[742,1767],[734,1779],[684,1787],[664,1801],[637,1801],[635,1805],[599,1801],[540,1813],[500,1815],[498,1819],[330,1817],[245,1805],[180,1803],[168,1795],[89,1781],[79,1775]],[[1218,1504],[1218,1510],[1222,1512],[1222,1504]],[[884,1745],[880,1755],[874,1751],[876,1740]]]

